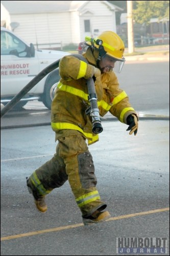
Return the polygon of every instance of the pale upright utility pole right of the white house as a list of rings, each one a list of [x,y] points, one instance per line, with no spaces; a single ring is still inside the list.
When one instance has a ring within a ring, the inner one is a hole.
[[[128,52],[134,52],[134,34],[133,34],[133,1],[127,1],[127,18],[128,18]]]

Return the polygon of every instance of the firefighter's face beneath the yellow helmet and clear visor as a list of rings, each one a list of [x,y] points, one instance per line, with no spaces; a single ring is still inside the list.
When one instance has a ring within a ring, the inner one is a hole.
[[[114,63],[116,60],[114,58],[109,57],[108,55],[105,55],[102,57],[102,59],[99,61],[99,68],[101,70],[101,73],[109,73],[114,68]]]

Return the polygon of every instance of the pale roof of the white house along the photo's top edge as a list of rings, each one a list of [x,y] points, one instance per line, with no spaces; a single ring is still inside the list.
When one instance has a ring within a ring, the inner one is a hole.
[[[79,10],[85,6],[89,1],[1,1],[3,6],[10,14],[28,14],[28,13],[49,13],[49,12],[65,12]],[[101,1],[105,3],[110,10],[122,11],[108,1]]]

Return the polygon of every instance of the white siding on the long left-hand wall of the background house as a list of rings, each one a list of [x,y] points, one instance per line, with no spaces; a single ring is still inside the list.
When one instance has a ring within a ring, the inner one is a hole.
[[[40,48],[56,48],[60,47],[61,42],[71,42],[69,13],[64,13],[64,18],[61,13],[12,15],[11,22],[14,20],[20,24],[14,32],[25,41],[38,44]]]

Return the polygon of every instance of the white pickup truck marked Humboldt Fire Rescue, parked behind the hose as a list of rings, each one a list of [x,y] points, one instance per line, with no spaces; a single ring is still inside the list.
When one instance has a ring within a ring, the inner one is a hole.
[[[69,53],[63,51],[35,50],[12,31],[1,27],[1,103],[6,105],[40,71]],[[52,88],[60,79],[55,69],[39,81],[16,104],[17,108],[29,100],[39,100],[51,109]]]

